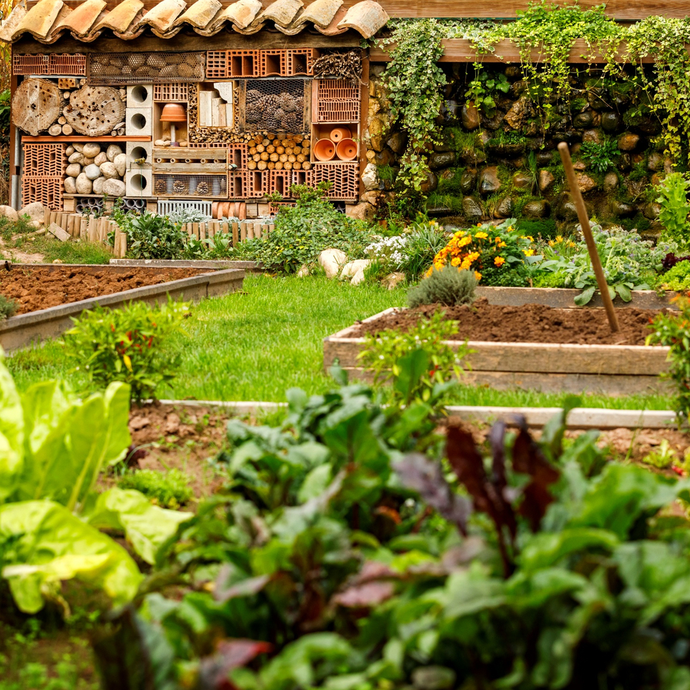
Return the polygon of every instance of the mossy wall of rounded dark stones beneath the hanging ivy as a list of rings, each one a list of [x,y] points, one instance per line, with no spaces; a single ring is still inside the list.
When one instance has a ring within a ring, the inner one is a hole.
[[[404,132],[391,128],[384,68],[371,66],[362,217],[393,200],[393,179],[406,147]],[[449,83],[437,117],[442,143],[430,151],[431,172],[423,185],[430,216],[444,224],[513,216],[576,222],[556,150],[567,141],[589,213],[642,234],[658,233],[659,207],[651,187],[671,170],[671,161],[663,154],[660,123],[641,105],[644,99],[631,81],[602,82],[573,68],[571,100],[553,104],[544,134],[544,112],[526,96],[520,66],[484,65],[490,77],[502,73],[510,84],[506,93],[491,92],[497,106],[491,117],[477,112],[464,95],[474,77],[472,65],[444,64],[444,69]],[[582,156],[582,143],[607,140],[616,144],[614,165],[598,172]]]

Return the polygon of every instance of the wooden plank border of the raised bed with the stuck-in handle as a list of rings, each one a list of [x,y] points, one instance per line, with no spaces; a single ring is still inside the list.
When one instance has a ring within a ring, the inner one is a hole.
[[[540,288],[538,288],[540,289]],[[365,323],[399,311],[391,307]],[[324,370],[339,361],[351,375],[366,379],[357,355],[365,339],[353,337],[349,326],[324,338]],[[446,341],[453,350],[462,341]],[[503,343],[469,341],[474,351],[464,360],[469,368],[463,382],[492,388],[525,388],[544,393],[601,393],[640,395],[669,393],[669,383],[660,380],[667,371],[669,348],[640,345],[568,345],[551,343]]]

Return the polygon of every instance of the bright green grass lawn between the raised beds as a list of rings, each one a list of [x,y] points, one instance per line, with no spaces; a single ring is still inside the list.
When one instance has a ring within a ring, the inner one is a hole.
[[[197,400],[284,401],[297,386],[322,393],[331,381],[322,371],[322,340],[390,306],[406,304],[405,290],[351,286],[322,277],[248,276],[244,293],[207,299],[195,310],[179,336],[184,351],[172,390],[160,397]],[[25,350],[8,358],[23,390],[48,378],[62,377],[82,389],[86,380],[61,351],[59,342]],[[564,395],[531,391],[494,391],[463,386],[456,404],[557,407]],[[591,407],[669,409],[662,396],[611,398],[586,396]]]

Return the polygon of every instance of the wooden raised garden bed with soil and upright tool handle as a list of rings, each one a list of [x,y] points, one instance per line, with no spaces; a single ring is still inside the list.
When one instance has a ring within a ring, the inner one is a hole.
[[[474,351],[464,360],[469,368],[464,377],[468,384],[605,395],[671,391],[670,384],[659,378],[667,370],[669,348],[642,344],[654,311],[621,310],[618,318],[622,330],[613,335],[607,331],[606,316],[600,309],[556,309],[535,304],[492,307],[484,299],[475,305],[446,309],[449,317],[461,319],[458,339],[448,344],[457,350],[468,339]],[[364,335],[404,328],[415,323],[419,315],[433,313],[434,308],[415,310],[415,315],[413,310],[386,309],[326,337],[324,368],[337,359],[352,375],[366,378],[357,360],[364,348]]]

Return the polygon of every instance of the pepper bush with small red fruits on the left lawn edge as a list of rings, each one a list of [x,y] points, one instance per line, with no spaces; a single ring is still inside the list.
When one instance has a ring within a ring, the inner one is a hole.
[[[182,331],[190,308],[190,302],[170,298],[155,307],[145,302],[115,310],[98,305],[72,319],[75,325],[63,336],[66,355],[99,386],[122,381],[137,402],[155,397],[158,386],[175,378],[179,364],[179,353],[163,353],[161,346]]]

